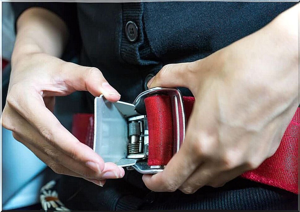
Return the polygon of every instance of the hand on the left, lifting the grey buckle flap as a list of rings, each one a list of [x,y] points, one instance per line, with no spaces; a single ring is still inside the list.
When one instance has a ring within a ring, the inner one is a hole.
[[[12,63],[2,126],[11,130],[16,140],[54,172],[82,177],[103,186],[105,179],[123,177],[124,169],[105,163],[52,113],[55,96],[76,90],[94,96],[103,94],[112,102],[120,99],[120,94],[99,69],[65,62],[45,53],[26,54]]]

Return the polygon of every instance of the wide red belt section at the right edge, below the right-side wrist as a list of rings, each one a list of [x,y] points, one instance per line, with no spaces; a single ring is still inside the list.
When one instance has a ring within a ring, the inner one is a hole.
[[[298,194],[299,132],[300,108],[298,107],[275,154],[257,169],[243,173],[241,177]]]

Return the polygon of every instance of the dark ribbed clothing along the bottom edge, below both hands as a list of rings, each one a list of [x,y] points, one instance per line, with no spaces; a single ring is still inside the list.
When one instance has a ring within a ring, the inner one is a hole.
[[[135,172],[135,171],[131,171]],[[139,183],[139,180],[136,181]],[[298,195],[240,177],[223,187],[204,186],[194,194],[152,192],[125,179],[103,187],[75,177],[62,177],[56,187],[71,210],[297,210]],[[88,192],[87,192],[88,191]]]

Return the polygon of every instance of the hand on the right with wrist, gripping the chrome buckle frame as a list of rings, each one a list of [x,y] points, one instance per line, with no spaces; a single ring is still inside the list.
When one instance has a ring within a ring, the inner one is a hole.
[[[297,18],[288,33],[274,30],[277,21],[202,60],[166,65],[149,81],[195,96],[179,152],[164,171],[143,176],[149,189],[219,187],[275,153],[299,105]]]

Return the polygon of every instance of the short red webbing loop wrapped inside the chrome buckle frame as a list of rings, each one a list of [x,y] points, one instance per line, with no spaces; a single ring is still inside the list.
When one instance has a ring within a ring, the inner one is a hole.
[[[155,104],[153,104],[155,102]],[[145,98],[149,130],[148,165],[167,165],[173,156],[173,118],[169,96]]]

